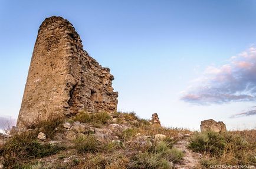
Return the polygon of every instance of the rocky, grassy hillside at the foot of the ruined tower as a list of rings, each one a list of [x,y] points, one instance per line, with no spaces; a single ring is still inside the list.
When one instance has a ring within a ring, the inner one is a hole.
[[[82,112],[0,135],[0,168],[191,169],[220,163],[253,165],[254,140],[255,130],[219,134],[165,128],[157,114],[152,120],[144,120],[134,113]],[[209,154],[209,150],[216,151]]]

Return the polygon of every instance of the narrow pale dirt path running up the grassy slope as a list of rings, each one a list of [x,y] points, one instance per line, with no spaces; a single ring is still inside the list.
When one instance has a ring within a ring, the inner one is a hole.
[[[174,147],[182,150],[185,154],[183,160],[175,165],[176,169],[198,168],[199,159],[202,157],[202,154],[194,153],[186,147],[188,145],[188,138],[189,137],[183,137],[182,140],[174,145]]]

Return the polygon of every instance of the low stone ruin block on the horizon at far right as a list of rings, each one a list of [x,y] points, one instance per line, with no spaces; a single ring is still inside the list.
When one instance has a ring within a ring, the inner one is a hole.
[[[214,132],[225,132],[227,131],[226,125],[222,121],[214,121],[212,119],[201,121],[201,132],[203,131],[214,131]]]

